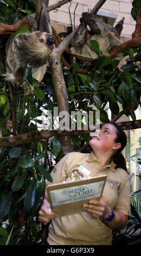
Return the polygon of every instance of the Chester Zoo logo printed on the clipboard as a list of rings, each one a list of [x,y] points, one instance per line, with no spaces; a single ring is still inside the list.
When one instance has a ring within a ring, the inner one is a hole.
[[[87,187],[79,187],[79,188],[68,188],[67,190],[63,190],[63,196],[76,197],[76,196],[86,196],[92,192],[91,189]]]

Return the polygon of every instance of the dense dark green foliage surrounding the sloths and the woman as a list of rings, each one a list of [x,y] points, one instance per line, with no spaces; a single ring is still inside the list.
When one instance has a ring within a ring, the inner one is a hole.
[[[5,24],[14,24],[23,16],[35,12],[33,0],[5,0],[3,2],[0,3],[0,22]],[[70,31],[71,28],[68,27],[66,35]],[[29,32],[29,28],[22,27],[16,33],[21,32]],[[65,36],[64,33],[60,35]],[[8,38],[9,35],[0,36],[1,74],[5,72],[5,44]],[[135,120],[134,111],[140,104],[141,93],[141,49],[126,50],[124,52],[125,64],[119,68],[118,60],[108,59],[100,53],[97,42],[92,41],[91,46],[99,54],[99,58],[92,63],[84,63],[79,59],[73,61],[67,53],[63,53],[67,62],[72,65],[72,69],[66,71],[62,64],[70,111],[88,112],[93,110],[91,105],[94,105],[95,109],[100,111],[101,122],[107,123],[110,121],[106,112],[107,108],[110,108],[114,115],[128,108],[125,114]],[[87,74],[78,72],[78,68],[87,69]],[[30,95],[25,95],[22,89],[17,90],[14,85],[9,87],[9,84],[5,83],[2,77],[0,78],[2,136],[36,131],[41,124],[41,119],[37,117],[42,113],[44,116],[48,115],[46,112],[48,110],[53,115],[56,97],[50,71],[48,70],[44,76],[44,84],[39,84],[31,77],[28,65],[25,67],[25,77],[27,83],[33,87]],[[15,120],[13,120],[15,117],[13,109],[16,109]],[[13,130],[8,127],[9,120],[12,124],[16,121]],[[73,147],[75,145],[81,147],[88,139],[89,135],[73,136]],[[34,141],[17,147],[4,147],[1,149],[0,157],[0,244],[5,245],[6,242],[9,245],[40,244],[42,227],[37,221],[37,213],[44,197],[44,180],[48,179],[52,182],[49,173],[61,157],[59,139],[54,138],[46,142]]]

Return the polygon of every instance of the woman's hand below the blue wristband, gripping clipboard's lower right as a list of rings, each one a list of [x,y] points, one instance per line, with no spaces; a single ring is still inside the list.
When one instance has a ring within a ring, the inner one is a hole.
[[[83,205],[82,209],[87,211],[92,218],[107,218],[112,212],[111,208],[102,200],[90,200],[88,204]]]

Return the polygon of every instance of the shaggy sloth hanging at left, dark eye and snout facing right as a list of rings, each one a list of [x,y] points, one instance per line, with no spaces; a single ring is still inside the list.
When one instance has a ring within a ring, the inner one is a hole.
[[[46,72],[47,60],[53,54],[55,38],[46,32],[35,31],[17,34],[6,47],[5,81],[21,84],[24,80],[24,67],[31,66],[33,78],[42,81]]]

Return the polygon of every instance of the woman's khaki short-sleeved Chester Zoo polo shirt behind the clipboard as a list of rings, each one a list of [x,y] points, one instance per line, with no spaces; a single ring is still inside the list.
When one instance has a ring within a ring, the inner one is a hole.
[[[101,168],[93,152],[68,153],[64,156],[52,170],[53,184],[65,181],[80,165],[91,172],[91,177],[107,175],[101,199],[113,210],[130,215],[129,175],[121,168],[115,169],[113,161]],[[87,212],[53,218],[49,225],[49,245],[111,245],[111,241],[112,229],[99,218],[93,219]]]

